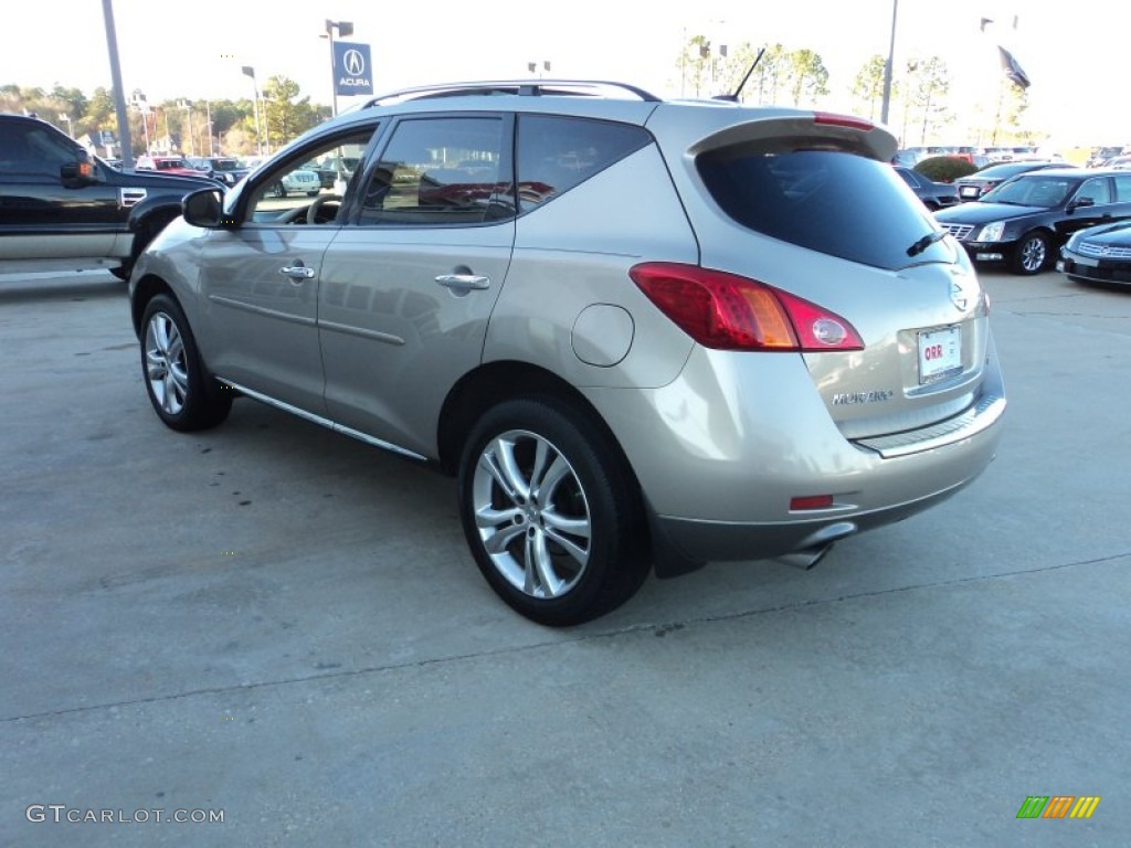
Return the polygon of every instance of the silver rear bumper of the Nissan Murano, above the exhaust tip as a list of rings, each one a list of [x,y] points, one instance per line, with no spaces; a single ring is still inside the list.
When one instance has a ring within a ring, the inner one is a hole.
[[[791,366],[783,357],[774,367]],[[673,384],[590,396],[640,481],[658,573],[812,551],[903,520],[976,479],[1001,440],[1005,398],[992,346],[968,408],[856,441],[830,419],[803,365],[778,378],[768,397],[744,386],[713,398],[702,383],[699,392]],[[810,496],[831,496],[831,505],[793,509]]]

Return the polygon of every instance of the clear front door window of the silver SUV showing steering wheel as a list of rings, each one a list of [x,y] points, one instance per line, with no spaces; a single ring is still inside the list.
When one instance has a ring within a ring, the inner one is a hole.
[[[250,224],[333,224],[374,128],[335,136],[264,166],[248,202]]]

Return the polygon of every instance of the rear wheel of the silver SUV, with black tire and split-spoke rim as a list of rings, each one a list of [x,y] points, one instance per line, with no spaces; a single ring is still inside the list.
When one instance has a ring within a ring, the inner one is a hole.
[[[611,438],[572,404],[532,398],[490,409],[460,459],[459,507],[487,583],[541,624],[604,615],[648,574],[636,481]]]

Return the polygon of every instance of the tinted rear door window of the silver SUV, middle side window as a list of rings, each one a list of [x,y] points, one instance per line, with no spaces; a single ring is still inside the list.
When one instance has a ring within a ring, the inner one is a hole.
[[[361,194],[360,224],[483,224],[512,217],[503,122],[493,115],[400,121]]]

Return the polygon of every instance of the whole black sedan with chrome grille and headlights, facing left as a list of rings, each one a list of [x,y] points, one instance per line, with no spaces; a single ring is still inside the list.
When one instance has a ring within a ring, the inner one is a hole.
[[[976,262],[1037,274],[1072,233],[1131,218],[1131,171],[1030,171],[934,217]]]

